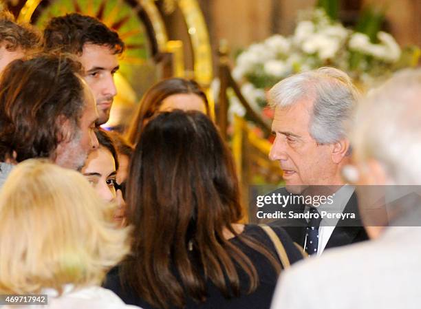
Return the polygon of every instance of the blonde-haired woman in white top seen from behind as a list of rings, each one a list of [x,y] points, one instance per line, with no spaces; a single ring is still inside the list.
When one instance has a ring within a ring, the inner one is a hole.
[[[18,164],[0,193],[0,295],[47,294],[48,308],[138,308],[99,286],[129,251],[112,214],[76,171]]]

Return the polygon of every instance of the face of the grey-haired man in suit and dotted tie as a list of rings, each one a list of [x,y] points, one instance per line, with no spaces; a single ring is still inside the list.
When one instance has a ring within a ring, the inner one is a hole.
[[[300,193],[309,185],[341,184],[332,145],[319,145],[309,133],[312,102],[301,100],[277,107],[272,122],[275,136],[270,160],[279,161],[287,189]]]

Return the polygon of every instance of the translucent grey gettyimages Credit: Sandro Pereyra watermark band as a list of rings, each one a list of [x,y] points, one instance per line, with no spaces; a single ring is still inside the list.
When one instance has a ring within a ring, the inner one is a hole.
[[[418,217],[404,215],[421,213],[421,186],[252,186],[249,193],[252,223],[303,226],[321,219],[323,226],[421,226]]]

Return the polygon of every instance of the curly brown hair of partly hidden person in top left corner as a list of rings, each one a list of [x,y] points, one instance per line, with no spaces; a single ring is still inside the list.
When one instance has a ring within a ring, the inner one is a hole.
[[[41,36],[29,24],[17,23],[7,10],[0,12],[0,43],[6,43],[6,50],[14,52],[17,48],[35,50],[41,43]]]

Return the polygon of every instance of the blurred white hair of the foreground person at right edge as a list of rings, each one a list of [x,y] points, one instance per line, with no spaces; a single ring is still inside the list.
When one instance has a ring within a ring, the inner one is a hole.
[[[358,160],[377,160],[394,184],[421,184],[421,70],[399,72],[371,91],[351,137]]]

